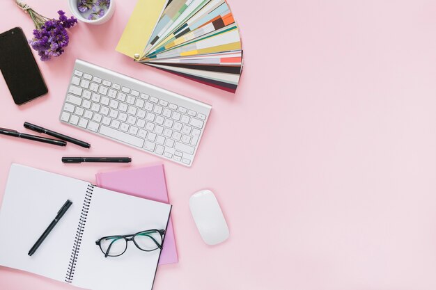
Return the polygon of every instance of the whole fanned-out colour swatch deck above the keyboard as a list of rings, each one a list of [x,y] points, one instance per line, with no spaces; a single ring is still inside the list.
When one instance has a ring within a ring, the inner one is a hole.
[[[242,72],[240,33],[225,0],[139,0],[116,50],[229,92]]]

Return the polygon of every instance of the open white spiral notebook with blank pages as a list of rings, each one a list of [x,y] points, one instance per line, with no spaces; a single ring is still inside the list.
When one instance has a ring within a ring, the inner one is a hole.
[[[67,199],[70,209],[27,255]],[[123,255],[104,257],[95,241],[166,229],[170,212],[170,204],[13,164],[0,209],[0,265],[85,289],[152,289],[159,249],[144,252],[130,241]]]

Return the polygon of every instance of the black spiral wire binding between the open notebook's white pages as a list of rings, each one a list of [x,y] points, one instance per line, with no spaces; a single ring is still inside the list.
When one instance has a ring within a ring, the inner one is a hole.
[[[67,275],[65,275],[65,282],[71,283],[72,278],[75,275],[77,256],[79,255],[81,238],[84,234],[86,218],[88,217],[89,206],[91,205],[91,198],[93,197],[94,186],[88,184],[86,188],[84,205],[81,208],[81,214],[79,218],[79,225],[77,225],[77,232],[75,242],[72,245],[72,252],[70,256],[70,262],[68,263]]]

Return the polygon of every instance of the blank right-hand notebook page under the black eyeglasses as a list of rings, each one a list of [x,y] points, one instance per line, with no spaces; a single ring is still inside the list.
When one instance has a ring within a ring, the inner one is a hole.
[[[160,250],[143,252],[132,241],[119,257],[104,257],[95,241],[146,229],[166,229],[170,204],[95,187],[72,284],[87,289],[153,287]]]

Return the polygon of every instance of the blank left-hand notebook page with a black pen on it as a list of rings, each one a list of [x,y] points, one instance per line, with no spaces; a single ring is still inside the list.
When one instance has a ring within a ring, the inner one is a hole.
[[[0,265],[64,281],[87,182],[13,164],[0,209]],[[72,205],[38,250],[27,253],[66,200]]]

